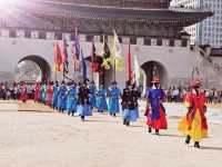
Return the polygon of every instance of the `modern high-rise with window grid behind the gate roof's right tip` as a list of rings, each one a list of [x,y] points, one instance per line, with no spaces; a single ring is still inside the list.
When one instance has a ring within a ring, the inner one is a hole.
[[[215,48],[222,47],[222,1],[221,0],[174,0],[172,6],[186,9],[210,9],[214,12],[202,22],[186,27],[185,31],[191,35],[191,45],[210,45]]]

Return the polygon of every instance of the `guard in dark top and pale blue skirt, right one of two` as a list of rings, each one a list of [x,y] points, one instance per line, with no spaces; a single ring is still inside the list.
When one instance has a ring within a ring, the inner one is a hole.
[[[130,81],[127,82],[122,94],[122,119],[123,125],[129,126],[130,121],[137,121],[139,118],[138,92]]]

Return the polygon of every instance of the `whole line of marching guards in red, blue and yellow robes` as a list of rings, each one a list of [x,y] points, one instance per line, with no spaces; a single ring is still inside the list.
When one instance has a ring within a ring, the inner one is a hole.
[[[202,138],[208,137],[208,124],[205,118],[205,95],[200,90],[201,80],[199,78],[192,79],[191,91],[184,96],[184,104],[188,107],[186,115],[182,118],[178,129],[186,135],[185,144],[190,144],[192,139],[194,147],[200,148]],[[108,104],[107,104],[108,97]],[[138,99],[140,92],[134,84],[125,82],[125,87],[121,91],[118,84],[114,81],[107,90],[103,85],[97,91],[93,81],[90,84],[84,81],[75,85],[73,81],[68,86],[64,81],[49,82],[48,85],[37,82],[34,85],[34,101],[46,104],[59,112],[68,111],[69,115],[78,115],[83,121],[85,117],[92,116],[92,110],[98,109],[99,112],[109,111],[111,116],[115,117],[120,112],[120,102],[122,107],[123,125],[129,126],[130,121],[137,121],[139,118]],[[145,92],[147,99],[147,125],[149,132],[152,129],[159,135],[160,129],[168,129],[168,121],[165,117],[165,109],[163,101],[165,98],[164,91],[160,88],[160,78],[153,77],[152,87]],[[21,86],[20,99],[27,100],[27,86],[23,82]]]

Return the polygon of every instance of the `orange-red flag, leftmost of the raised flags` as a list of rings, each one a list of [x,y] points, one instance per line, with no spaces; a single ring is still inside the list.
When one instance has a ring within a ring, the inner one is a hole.
[[[61,66],[62,66],[62,51],[61,48],[58,43],[58,41],[54,41],[54,70],[56,71],[61,71]]]

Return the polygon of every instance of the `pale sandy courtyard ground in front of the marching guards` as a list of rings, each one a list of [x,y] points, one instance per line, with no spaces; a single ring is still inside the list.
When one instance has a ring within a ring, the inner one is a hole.
[[[184,145],[173,114],[169,130],[155,136],[142,114],[125,127],[120,116],[94,112],[82,122],[32,102],[10,105],[0,109],[0,167],[221,167],[220,125],[210,124],[210,137],[195,149]]]

